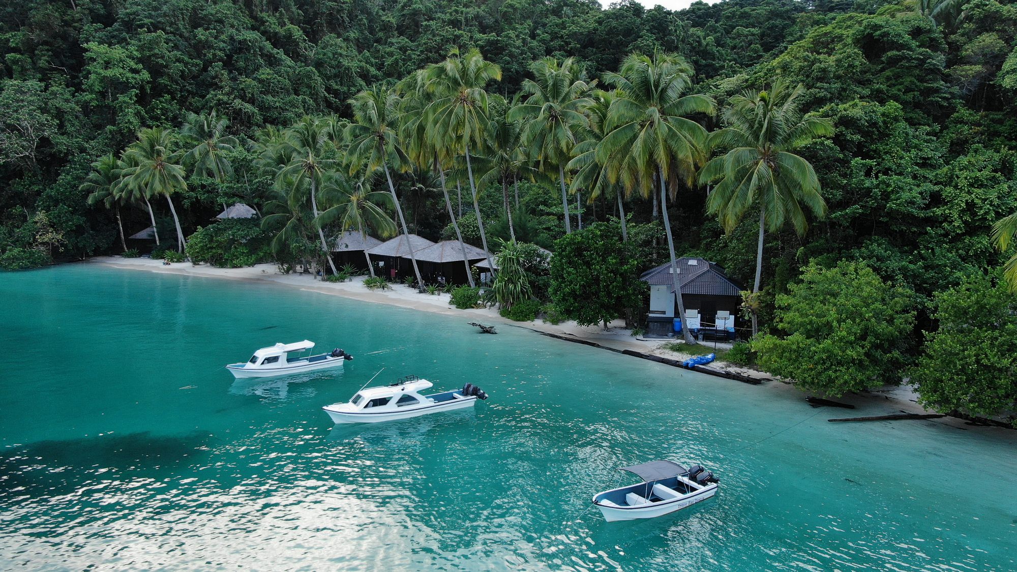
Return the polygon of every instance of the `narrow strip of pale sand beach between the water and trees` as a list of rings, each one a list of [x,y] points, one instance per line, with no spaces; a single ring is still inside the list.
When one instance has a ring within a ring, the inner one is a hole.
[[[320,280],[317,280],[316,277],[309,275],[301,276],[295,274],[280,274],[277,272],[276,265],[274,264],[262,264],[238,269],[222,269],[210,267],[207,265],[195,266],[191,263],[173,263],[167,266],[163,265],[162,261],[152,259],[124,259],[122,256],[96,256],[87,259],[83,262],[83,264],[104,265],[122,270],[140,270],[163,274],[196,276],[201,278],[224,278],[227,280],[240,280],[252,283],[270,282],[300,288],[301,290],[309,290],[334,296],[343,296],[345,298],[396,305],[422,311],[431,311],[445,316],[455,316],[466,319],[467,322],[484,322],[494,324],[495,326],[513,326],[523,328],[538,334],[546,334],[550,337],[562,339],[564,341],[592,345],[598,347],[598,349],[606,349],[619,354],[629,350],[630,352],[649,354],[651,356],[663,357],[668,360],[677,361],[691,357],[687,354],[676,353],[662,348],[661,346],[665,343],[664,340],[634,338],[631,336],[631,332],[629,330],[622,328],[624,324],[623,321],[620,320],[612,322],[609,325],[610,329],[606,332],[602,330],[600,326],[582,327],[571,321],[562,322],[557,326],[545,323],[539,319],[533,322],[514,322],[502,318],[496,310],[491,308],[460,309],[452,306],[450,305],[451,296],[445,293],[436,295],[419,294],[414,289],[399,285],[396,285],[393,290],[370,290],[363,285],[363,277],[355,277],[351,282],[321,282]],[[626,355],[626,357],[636,358],[631,354]],[[797,401],[802,405],[807,405],[805,402],[806,393],[795,388],[794,384],[791,382],[784,381],[777,376],[771,376],[765,371],[740,367],[723,361],[715,361],[711,363],[711,365],[713,364],[716,364],[721,370],[728,370],[737,374],[738,376],[759,380],[759,385],[756,387],[781,392],[785,398]],[[737,383],[739,385],[746,383],[734,380],[725,381],[727,383]],[[718,383],[724,382],[718,380]],[[844,395],[839,398],[834,398],[834,400],[854,405],[856,407],[874,405],[881,406],[880,409],[885,409],[885,411],[876,413],[880,415],[901,412],[936,412],[926,410],[917,404],[917,395],[910,386],[888,386],[875,389],[871,392]],[[828,410],[830,418],[860,416],[860,414],[848,414],[846,412],[847,410],[844,410],[843,413],[841,413],[840,409],[829,408]],[[952,416],[941,417],[938,419],[926,419],[921,422],[941,423],[964,431],[980,432],[1005,428],[968,424],[970,421]],[[1010,439],[1017,443],[1017,432],[1013,432],[1011,430],[1006,432],[1006,434],[1010,435]],[[993,435],[1004,434],[997,432]]]

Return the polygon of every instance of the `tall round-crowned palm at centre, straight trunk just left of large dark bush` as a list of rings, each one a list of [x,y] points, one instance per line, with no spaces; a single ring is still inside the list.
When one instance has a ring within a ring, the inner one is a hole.
[[[544,58],[533,62],[530,70],[535,79],[523,81],[523,93],[530,97],[513,109],[510,118],[527,122],[523,140],[540,168],[544,172],[557,168],[565,234],[570,234],[564,166],[578,140],[576,129],[586,124],[583,108],[593,103],[586,97],[593,85],[586,81],[583,68],[574,58],[560,64],[554,58]]]

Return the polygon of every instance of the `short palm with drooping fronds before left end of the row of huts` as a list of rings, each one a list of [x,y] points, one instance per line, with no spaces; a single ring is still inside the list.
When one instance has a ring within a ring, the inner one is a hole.
[[[385,192],[371,190],[370,181],[360,178],[350,188],[344,177],[333,173],[322,183],[321,193],[332,207],[325,208],[317,216],[315,225],[318,228],[338,221],[340,233],[355,229],[366,238],[367,229],[370,228],[381,238],[396,234],[395,221],[382,209],[391,205],[392,198]],[[367,270],[373,277],[374,266],[371,265],[371,256],[366,248],[364,258],[367,259]]]

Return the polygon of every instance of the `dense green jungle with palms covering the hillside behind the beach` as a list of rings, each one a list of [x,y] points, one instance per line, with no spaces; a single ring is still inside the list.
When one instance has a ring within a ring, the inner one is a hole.
[[[759,330],[736,344],[745,363],[833,395],[909,378],[939,410],[1017,409],[1017,3],[0,11],[2,268],[148,251],[124,236],[153,223],[157,256],[223,266],[313,259],[326,234],[405,224],[561,251],[542,275],[519,254],[529,283],[510,265],[496,301],[596,324],[638,322],[638,275],[670,243],[744,285]],[[651,123],[672,129],[664,144],[620,141]],[[763,154],[755,175],[739,150]],[[235,203],[262,222],[214,222]],[[247,246],[207,253],[224,241]]]

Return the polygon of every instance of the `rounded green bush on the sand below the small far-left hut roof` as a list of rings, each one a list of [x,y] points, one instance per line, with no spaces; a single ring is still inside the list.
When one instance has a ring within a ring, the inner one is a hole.
[[[254,266],[267,260],[268,238],[253,219],[223,219],[198,227],[187,241],[187,253],[219,268]]]

